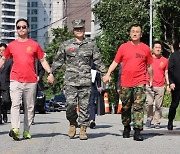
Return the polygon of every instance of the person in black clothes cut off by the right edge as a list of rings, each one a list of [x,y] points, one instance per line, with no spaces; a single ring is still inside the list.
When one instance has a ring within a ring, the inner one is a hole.
[[[168,65],[169,87],[171,89],[171,105],[168,114],[168,130],[173,130],[173,120],[180,101],[180,41],[174,45],[175,52],[171,54]]]

